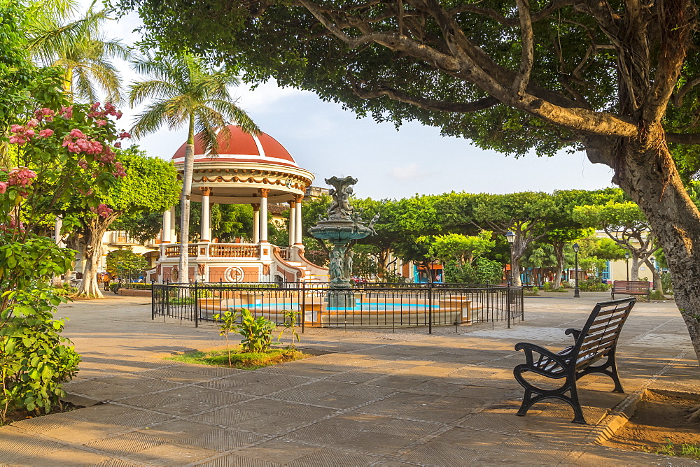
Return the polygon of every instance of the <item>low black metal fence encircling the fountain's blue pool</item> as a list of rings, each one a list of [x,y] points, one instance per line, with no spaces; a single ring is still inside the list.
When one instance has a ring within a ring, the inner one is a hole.
[[[277,324],[284,313],[297,311],[307,327],[397,329],[469,325],[524,319],[522,287],[464,284],[364,283],[348,290],[328,283],[221,282],[153,284],[152,318],[195,322],[247,308]]]

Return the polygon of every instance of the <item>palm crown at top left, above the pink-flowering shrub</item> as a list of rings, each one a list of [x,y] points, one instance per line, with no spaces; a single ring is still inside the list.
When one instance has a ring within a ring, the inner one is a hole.
[[[72,5],[66,1],[53,14],[37,12],[31,17],[29,52],[44,66],[64,70],[64,89],[73,99],[97,102],[97,86],[108,101],[118,102],[121,77],[111,59],[129,60],[131,51],[102,34],[104,22],[111,20],[107,10],[96,11],[93,3],[83,17],[69,20]]]

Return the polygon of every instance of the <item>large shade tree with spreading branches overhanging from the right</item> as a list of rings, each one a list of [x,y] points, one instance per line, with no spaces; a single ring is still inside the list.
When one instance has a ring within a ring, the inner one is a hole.
[[[649,218],[700,357],[700,211],[671,152],[700,143],[696,2],[115,1],[139,10],[146,41],[360,115],[514,154],[584,150]],[[676,153],[697,171],[696,151]]]

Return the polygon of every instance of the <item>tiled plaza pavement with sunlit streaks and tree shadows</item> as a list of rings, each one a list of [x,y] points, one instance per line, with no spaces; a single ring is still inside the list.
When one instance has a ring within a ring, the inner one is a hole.
[[[108,403],[0,427],[0,464],[45,466],[398,466],[468,464],[688,465],[595,443],[626,395],[606,377],[580,381],[591,423],[566,405],[516,417],[512,368],[526,340],[563,347],[605,294],[526,299],[526,321],[389,331],[307,330],[330,352],[238,371],[177,364],[162,354],[223,345],[211,324],[151,321],[137,297],[59,308],[83,354],[71,394]],[[619,344],[627,394],[699,390],[698,367],[673,302],[638,303]],[[86,399],[87,401],[87,399]],[[598,424],[598,425],[596,425]]]

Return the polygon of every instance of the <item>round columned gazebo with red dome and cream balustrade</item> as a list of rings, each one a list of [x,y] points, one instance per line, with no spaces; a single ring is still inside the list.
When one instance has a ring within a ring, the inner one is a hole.
[[[191,201],[202,203],[200,241],[190,243],[189,281],[307,282],[328,280],[328,269],[304,258],[302,199],[314,175],[297,166],[289,152],[272,136],[252,136],[239,127],[218,134],[218,155],[204,152],[195,137],[195,164]],[[182,174],[185,144],[172,160]],[[250,204],[253,207],[252,243],[216,243],[211,238],[212,203]],[[289,206],[288,245],[272,245],[267,236],[269,204]],[[175,212],[163,215],[162,244],[155,269],[157,282],[188,282],[178,271],[180,245]]]

